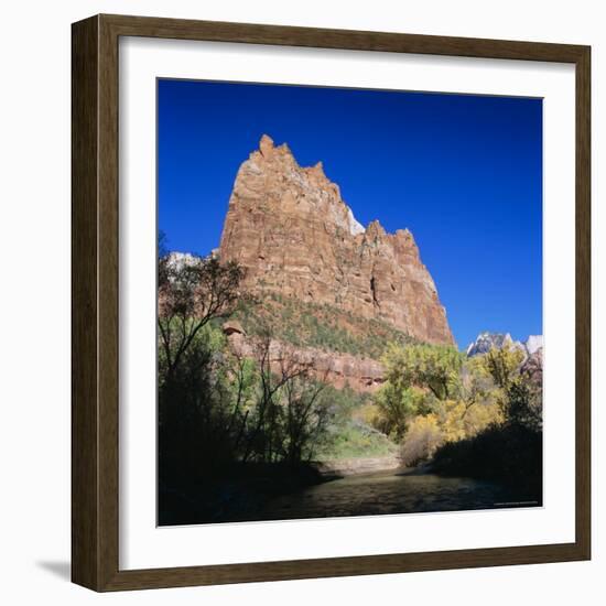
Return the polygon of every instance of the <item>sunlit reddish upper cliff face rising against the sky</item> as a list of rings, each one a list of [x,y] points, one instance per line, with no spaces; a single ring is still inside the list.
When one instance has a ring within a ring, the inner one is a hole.
[[[245,288],[389,322],[428,343],[453,343],[412,234],[356,221],[322,163],[299,166],[263,136],[238,171],[219,255],[247,270]]]

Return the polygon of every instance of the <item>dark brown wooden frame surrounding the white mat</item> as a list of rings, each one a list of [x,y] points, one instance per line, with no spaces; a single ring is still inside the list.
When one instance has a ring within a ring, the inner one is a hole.
[[[576,538],[573,543],[121,571],[118,566],[118,39],[389,51],[571,63],[576,69]],[[97,15],[72,26],[72,580],[96,591],[591,558],[591,48]]]

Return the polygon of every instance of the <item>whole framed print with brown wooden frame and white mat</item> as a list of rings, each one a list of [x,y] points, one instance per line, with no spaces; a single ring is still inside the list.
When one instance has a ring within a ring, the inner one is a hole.
[[[587,560],[589,48],[73,25],[73,581]]]

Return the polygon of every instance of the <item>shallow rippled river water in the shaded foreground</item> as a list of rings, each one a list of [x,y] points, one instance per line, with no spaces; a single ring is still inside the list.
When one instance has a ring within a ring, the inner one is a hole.
[[[268,501],[257,519],[283,520],[534,507],[528,495],[490,481],[399,472],[349,476]]]

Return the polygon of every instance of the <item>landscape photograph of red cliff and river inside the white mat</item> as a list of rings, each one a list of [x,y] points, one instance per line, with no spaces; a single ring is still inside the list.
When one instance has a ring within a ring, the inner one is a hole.
[[[543,506],[543,99],[156,79],[156,523]]]

